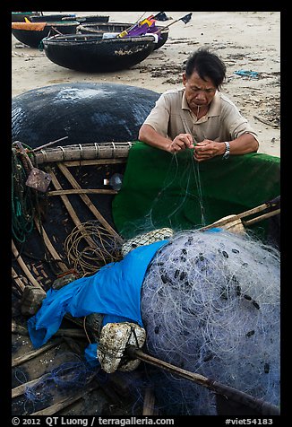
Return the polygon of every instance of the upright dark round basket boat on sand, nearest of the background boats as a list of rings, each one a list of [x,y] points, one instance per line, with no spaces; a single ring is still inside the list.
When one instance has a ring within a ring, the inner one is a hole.
[[[154,50],[153,36],[103,39],[103,34],[52,36],[43,39],[47,58],[87,73],[113,72],[139,64]]]

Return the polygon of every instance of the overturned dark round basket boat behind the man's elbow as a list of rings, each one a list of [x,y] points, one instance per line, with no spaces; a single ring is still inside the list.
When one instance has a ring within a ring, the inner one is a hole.
[[[63,145],[133,141],[158,98],[158,92],[117,83],[32,89],[13,97],[12,140],[33,148],[64,136]]]

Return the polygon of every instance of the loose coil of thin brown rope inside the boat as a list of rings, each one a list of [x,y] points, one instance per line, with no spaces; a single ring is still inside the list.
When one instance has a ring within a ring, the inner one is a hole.
[[[99,221],[82,222],[66,237],[64,253],[74,270],[86,275],[122,258],[121,243]]]

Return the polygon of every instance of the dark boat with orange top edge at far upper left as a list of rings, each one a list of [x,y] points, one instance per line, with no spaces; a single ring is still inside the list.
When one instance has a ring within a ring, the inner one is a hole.
[[[44,24],[43,26],[42,23]],[[79,22],[13,22],[12,32],[15,39],[30,48],[39,48],[42,39],[56,33],[76,34]],[[56,29],[56,30],[55,30]]]

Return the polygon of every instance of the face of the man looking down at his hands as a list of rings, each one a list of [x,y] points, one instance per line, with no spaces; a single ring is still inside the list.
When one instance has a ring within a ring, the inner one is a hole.
[[[183,83],[185,86],[185,98],[193,111],[196,111],[198,107],[208,106],[217,90],[210,79],[202,80],[196,72],[193,72],[188,79],[184,73]]]

